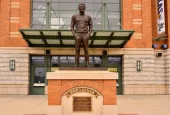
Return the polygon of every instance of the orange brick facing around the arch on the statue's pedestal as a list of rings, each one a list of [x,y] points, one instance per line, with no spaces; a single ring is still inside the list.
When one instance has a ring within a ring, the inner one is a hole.
[[[48,105],[61,105],[61,96],[76,86],[94,88],[103,95],[104,105],[116,105],[116,81],[113,80],[49,80]]]

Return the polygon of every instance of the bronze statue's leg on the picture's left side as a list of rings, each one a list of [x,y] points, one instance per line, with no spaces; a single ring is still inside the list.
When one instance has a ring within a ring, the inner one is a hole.
[[[79,57],[80,57],[80,45],[81,45],[81,36],[77,34],[76,39],[75,39],[75,48],[76,48],[76,53],[75,53],[75,67],[79,66]]]

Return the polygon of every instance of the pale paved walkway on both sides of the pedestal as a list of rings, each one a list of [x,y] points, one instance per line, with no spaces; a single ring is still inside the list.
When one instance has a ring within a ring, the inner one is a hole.
[[[117,96],[118,111],[138,115],[170,115],[170,95]],[[46,114],[47,96],[0,95],[0,115]]]

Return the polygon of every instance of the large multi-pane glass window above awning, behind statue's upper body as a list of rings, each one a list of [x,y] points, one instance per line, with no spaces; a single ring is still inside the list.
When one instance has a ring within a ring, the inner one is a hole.
[[[102,29],[106,23],[106,29],[119,30],[121,28],[121,0],[106,0],[106,6],[103,6],[103,1],[51,0],[47,5],[46,0],[33,0],[32,28],[41,29],[49,25],[52,29],[70,29],[71,17],[78,14],[78,4],[84,2],[85,13],[92,17],[94,29]],[[102,18],[105,11],[107,11],[105,14],[107,17]]]

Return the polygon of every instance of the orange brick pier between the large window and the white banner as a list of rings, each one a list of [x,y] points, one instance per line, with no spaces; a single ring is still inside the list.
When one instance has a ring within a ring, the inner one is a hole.
[[[122,0],[124,30],[134,30],[126,48],[152,47],[151,0]]]

